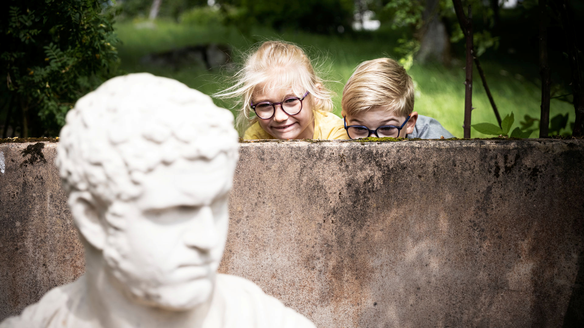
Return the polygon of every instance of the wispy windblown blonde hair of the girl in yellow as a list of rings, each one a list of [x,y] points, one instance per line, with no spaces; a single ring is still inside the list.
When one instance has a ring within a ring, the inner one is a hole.
[[[252,51],[244,66],[234,75],[235,84],[214,96],[235,98],[240,112],[236,118],[239,131],[258,121],[249,107],[256,87],[263,90],[292,88],[296,95],[310,92],[314,110],[332,110],[332,92],[325,88],[314,72],[314,67],[304,51],[296,44],[284,41],[266,41]],[[317,85],[320,86],[317,87]],[[253,117],[252,117],[253,116]]]

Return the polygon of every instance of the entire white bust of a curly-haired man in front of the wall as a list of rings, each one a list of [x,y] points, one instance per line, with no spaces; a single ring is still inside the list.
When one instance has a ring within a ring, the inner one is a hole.
[[[79,99],[57,166],[86,272],[0,328],[314,327],[217,273],[237,137],[230,111],[168,78],[120,76]]]

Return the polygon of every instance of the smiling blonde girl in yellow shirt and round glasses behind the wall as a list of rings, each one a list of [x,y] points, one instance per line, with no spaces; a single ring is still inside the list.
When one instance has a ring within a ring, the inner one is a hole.
[[[331,91],[300,47],[266,41],[235,78],[215,96],[239,99],[244,139],[349,139],[343,120],[330,112]]]

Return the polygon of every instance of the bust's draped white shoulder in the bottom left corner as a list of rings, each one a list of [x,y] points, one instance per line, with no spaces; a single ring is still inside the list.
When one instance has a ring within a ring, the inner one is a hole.
[[[55,287],[20,315],[2,321],[0,328],[80,327],[74,322],[72,312],[83,297],[84,288],[85,284],[79,280]]]

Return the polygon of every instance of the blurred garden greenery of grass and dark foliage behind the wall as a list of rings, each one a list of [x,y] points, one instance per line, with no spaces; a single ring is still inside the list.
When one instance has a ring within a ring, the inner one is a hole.
[[[575,26],[582,26],[584,2],[566,1]],[[534,131],[534,137],[541,96],[538,0],[506,7],[500,0],[462,2],[465,8],[472,5],[475,55],[501,116],[514,113],[516,125]],[[559,2],[547,0],[545,13],[550,132],[570,134],[573,70]],[[377,27],[356,27],[367,20]],[[576,33],[580,49],[583,35]],[[228,65],[208,69],[185,58],[160,65],[145,58],[221,44],[233,50],[237,63],[267,39],[300,44],[330,81],[339,82],[329,85],[335,113],[343,83],[359,62],[395,58],[416,82],[416,110],[460,135],[465,42],[452,0],[5,0],[0,4],[0,75],[6,82],[0,83],[0,137],[56,136],[79,97],[123,72],[169,76],[213,94],[228,81]],[[579,58],[584,60],[581,51]],[[475,72],[472,123],[495,124],[478,76]],[[488,134],[473,131],[473,136]]]

